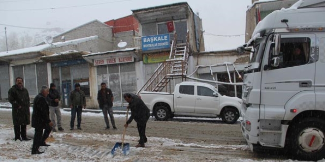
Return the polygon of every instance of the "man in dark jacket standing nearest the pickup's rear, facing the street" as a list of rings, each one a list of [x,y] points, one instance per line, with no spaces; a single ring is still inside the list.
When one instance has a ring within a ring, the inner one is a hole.
[[[99,104],[99,108],[103,111],[104,114],[104,120],[106,123],[106,129],[109,129],[109,121],[107,117],[107,113],[109,114],[109,118],[111,118],[113,129],[115,130],[115,120],[113,115],[113,101],[114,96],[112,93],[112,90],[109,88],[106,88],[106,83],[102,82],[100,84],[101,89],[98,90],[97,93],[97,101]]]

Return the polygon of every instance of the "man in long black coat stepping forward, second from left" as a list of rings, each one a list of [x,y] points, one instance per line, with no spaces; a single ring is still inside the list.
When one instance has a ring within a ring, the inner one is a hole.
[[[50,135],[53,122],[50,120],[49,105],[46,98],[49,94],[49,88],[42,86],[40,93],[34,98],[32,107],[32,127],[35,128],[34,140],[32,143],[32,154],[42,154],[38,151],[40,146],[50,146],[45,140]],[[45,129],[43,134],[43,129]]]

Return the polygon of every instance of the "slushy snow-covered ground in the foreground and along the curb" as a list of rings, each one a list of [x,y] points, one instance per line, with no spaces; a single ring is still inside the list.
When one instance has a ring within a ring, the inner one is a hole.
[[[0,108],[0,113],[11,111],[9,108]],[[31,108],[32,111],[32,108]],[[62,111],[63,114],[70,114],[68,111]],[[83,116],[102,116],[100,113],[83,113]],[[116,118],[125,118],[125,115],[115,115]],[[200,118],[201,119],[201,118]],[[207,118],[209,119],[209,118]],[[126,156],[117,153],[111,155],[112,143],[121,141],[122,135],[106,135],[94,133],[78,133],[78,132],[60,132],[51,133],[47,143],[49,147],[40,147],[43,154],[31,155],[31,141],[14,141],[12,138],[14,131],[12,125],[1,123],[0,119],[0,162],[188,162],[193,161],[189,158],[191,152],[184,150],[194,149],[211,149],[232,151],[249,151],[247,145],[216,145],[207,143],[185,143],[178,139],[169,139],[162,137],[148,137],[148,143],[145,148],[135,148],[130,146],[130,153]],[[126,141],[136,141],[138,136],[125,136]],[[75,142],[79,141],[79,142]],[[85,142],[83,142],[85,141]],[[95,141],[93,145],[87,145]],[[166,152],[175,148],[182,148],[184,153],[172,154]],[[225,158],[219,157],[217,162],[300,162],[292,160],[252,160],[232,157],[231,154],[224,155]],[[195,162],[216,162],[206,157]],[[198,158],[199,159],[199,158]],[[325,162],[321,160],[318,162]]]

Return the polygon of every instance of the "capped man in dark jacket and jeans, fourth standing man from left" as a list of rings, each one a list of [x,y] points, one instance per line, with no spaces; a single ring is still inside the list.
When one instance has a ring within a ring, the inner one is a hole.
[[[86,108],[86,98],[85,92],[80,90],[80,84],[74,84],[74,90],[71,91],[69,96],[69,105],[71,108],[71,122],[70,122],[70,131],[73,130],[74,127],[74,119],[77,114],[77,122],[78,122],[78,130],[81,130],[81,112],[82,108]]]

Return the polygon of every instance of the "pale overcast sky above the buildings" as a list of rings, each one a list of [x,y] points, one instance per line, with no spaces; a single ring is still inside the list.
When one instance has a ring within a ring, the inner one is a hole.
[[[0,24],[6,25],[0,25],[0,36],[5,35],[4,27],[7,34],[41,32],[19,27],[68,30],[95,19],[106,22],[125,17],[133,9],[185,1],[202,19],[206,51],[234,49],[245,43],[246,10],[252,0],[0,0]]]

